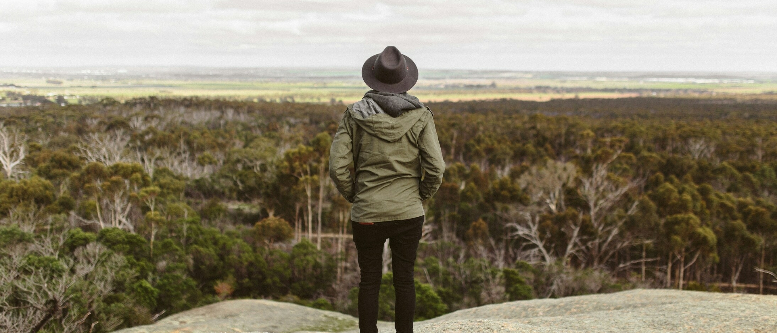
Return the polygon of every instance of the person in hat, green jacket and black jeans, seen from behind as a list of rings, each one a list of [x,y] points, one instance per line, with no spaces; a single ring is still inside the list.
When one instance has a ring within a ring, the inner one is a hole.
[[[395,328],[397,333],[412,333],[413,268],[424,221],[421,201],[437,192],[445,162],[434,115],[407,94],[418,81],[413,60],[387,46],[364,62],[361,77],[372,90],[348,105],[329,153],[329,176],[353,204],[351,226],[361,272],[359,330],[378,332],[383,245],[389,239]]]

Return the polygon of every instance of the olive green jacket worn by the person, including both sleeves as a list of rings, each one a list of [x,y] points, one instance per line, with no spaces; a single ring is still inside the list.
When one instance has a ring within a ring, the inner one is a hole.
[[[357,222],[424,215],[421,201],[437,192],[444,171],[434,118],[426,107],[396,118],[362,118],[348,105],[329,152],[329,176],[353,203],[350,218]]]

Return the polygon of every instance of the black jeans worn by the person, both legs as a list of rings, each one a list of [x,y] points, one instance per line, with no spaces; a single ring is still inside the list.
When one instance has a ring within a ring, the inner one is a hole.
[[[397,333],[413,332],[416,312],[416,264],[418,241],[421,239],[423,216],[406,220],[376,222],[371,225],[350,221],[354,228],[361,281],[359,282],[359,331],[378,332],[378,292],[383,269],[383,244],[389,239],[394,275],[395,322]]]

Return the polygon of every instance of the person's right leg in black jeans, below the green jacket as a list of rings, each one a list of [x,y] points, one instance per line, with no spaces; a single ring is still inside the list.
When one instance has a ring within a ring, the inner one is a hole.
[[[394,327],[397,333],[412,333],[413,317],[416,312],[413,267],[416,264],[416,251],[423,229],[423,216],[402,222],[397,227],[400,230],[389,239],[396,291]]]

